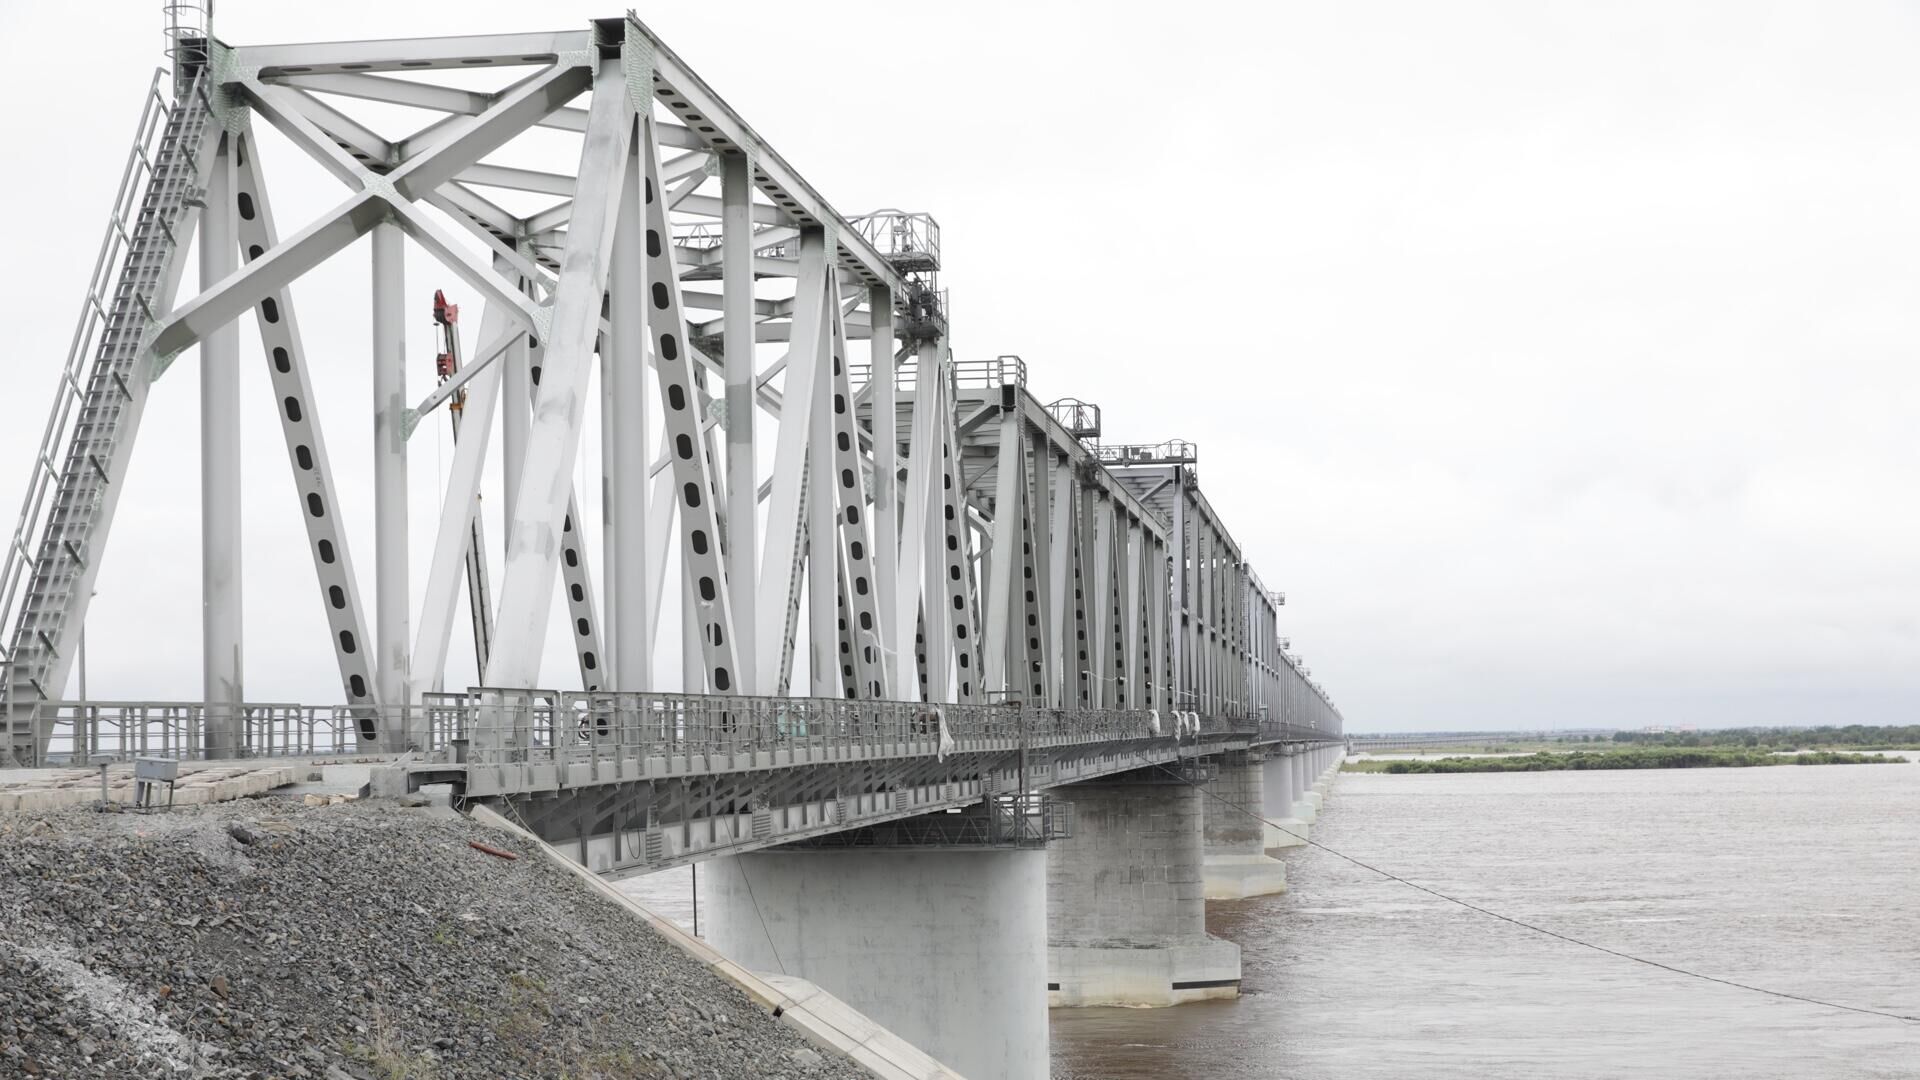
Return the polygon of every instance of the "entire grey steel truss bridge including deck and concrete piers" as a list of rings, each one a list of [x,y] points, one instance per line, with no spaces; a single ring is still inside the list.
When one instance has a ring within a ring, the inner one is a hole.
[[[167,12],[0,573],[13,765],[351,755],[376,794],[449,784],[607,876],[710,859],[724,951],[975,1078],[1044,1076],[1048,1003],[1236,992],[1204,899],[1283,888],[1267,851],[1306,834],[1342,717],[1192,444],[1102,444],[1098,405],[1041,402],[1018,356],[956,354],[935,219],[833,209],[632,13],[234,46],[200,6]],[[338,179],[338,206],[282,234],[263,142]],[[372,475],[340,477],[292,286],[361,236]],[[482,306],[467,348],[444,300],[442,338],[409,344],[409,250]],[[273,400],[240,400],[248,315]],[[180,357],[204,700],[73,700],[150,388]],[[242,619],[244,411],[284,432],[336,703],[244,692],[248,636],[282,632]],[[444,482],[409,486],[409,440],[447,423]],[[371,594],[342,484],[372,490]],[[420,498],[432,536],[409,536]],[[540,688],[557,590],[578,684]],[[449,690],[463,611],[482,686]]]

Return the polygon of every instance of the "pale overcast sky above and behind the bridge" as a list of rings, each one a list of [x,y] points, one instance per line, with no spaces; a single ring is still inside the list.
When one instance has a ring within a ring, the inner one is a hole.
[[[159,4],[115,8],[0,12],[4,513],[157,61]],[[217,31],[618,10],[225,0]],[[1098,402],[1110,440],[1200,444],[1350,730],[1920,719],[1920,6],[639,15],[841,211],[941,219],[956,356],[1021,354],[1043,400]],[[311,190],[276,196],[282,234],[338,200]],[[430,296],[449,275],[424,261],[409,286]],[[371,429],[365,284],[317,275],[296,302],[338,354],[315,365],[346,471]],[[188,357],[108,552],[96,696],[198,696],[196,402]],[[248,690],[330,701],[284,452],[269,409],[246,425]]]

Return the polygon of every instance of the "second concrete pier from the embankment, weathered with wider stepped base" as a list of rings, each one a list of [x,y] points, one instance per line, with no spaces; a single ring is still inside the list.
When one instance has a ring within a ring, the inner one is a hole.
[[[1206,796],[1158,769],[1050,794],[1073,836],[1046,846],[1048,1003],[1236,997],[1240,945],[1206,932]]]

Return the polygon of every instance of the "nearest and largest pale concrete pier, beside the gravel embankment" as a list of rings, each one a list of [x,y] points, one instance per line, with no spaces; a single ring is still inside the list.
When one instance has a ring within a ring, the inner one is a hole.
[[[783,847],[699,880],[735,963],[806,978],[962,1076],[1046,1078],[1044,851]]]

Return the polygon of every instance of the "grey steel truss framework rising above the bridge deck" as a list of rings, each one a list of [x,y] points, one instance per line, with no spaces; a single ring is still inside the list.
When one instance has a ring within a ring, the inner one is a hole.
[[[451,75],[495,69],[488,90]],[[157,724],[184,753],[451,753],[440,721],[459,715],[476,769],[541,748],[564,765],[578,746],[515,742],[526,732],[503,723],[513,696],[549,694],[532,688],[555,590],[580,680],[568,692],[589,698],[922,701],[1046,711],[1060,730],[1087,717],[1089,732],[1121,717],[1123,734],[1092,740],[1121,755],[1162,753],[1131,744],[1173,740],[1188,713],[1246,738],[1338,730],[1192,486],[1190,448],[1116,455],[1087,442],[1096,421],[1066,427],[1035,400],[1018,357],[954,356],[933,219],[835,211],[636,17],[461,38],[207,37],[175,75],[142,119],[0,578],[15,759],[100,748],[100,711],[63,703],[67,676],[146,392],[177,361],[198,365],[211,405],[204,450],[227,446],[242,409],[276,417],[326,615],[315,657],[342,692],[324,707],[246,700],[238,582],[217,573],[244,544],[240,465],[209,465],[202,525],[223,548],[205,540],[205,700],[121,707],[123,749]],[[332,177],[332,209],[276,221],[269,146]],[[200,284],[182,292],[196,233]],[[330,409],[323,425],[296,317],[301,279],[361,236],[371,477],[334,473],[342,421]],[[409,252],[480,306],[459,369],[426,394],[403,380],[430,348],[403,332],[424,307],[401,286]],[[234,394],[248,313],[271,402]],[[409,488],[411,436],[455,407],[445,477]],[[582,463],[601,473],[597,502]],[[490,471],[499,498],[478,502]],[[371,550],[349,550],[344,486],[374,492]],[[407,532],[413,502],[440,509],[430,536]],[[503,573],[478,588],[488,527]],[[432,552],[419,603],[415,548]],[[463,600],[493,690],[445,694]],[[662,671],[674,651],[678,676]],[[307,734],[288,736],[300,717]],[[776,753],[783,728],[768,732]],[[927,753],[941,784],[962,784],[947,761],[981,782],[983,749]]]

